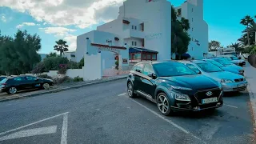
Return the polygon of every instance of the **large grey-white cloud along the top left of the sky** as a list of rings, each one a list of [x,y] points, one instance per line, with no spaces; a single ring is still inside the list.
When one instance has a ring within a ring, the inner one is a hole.
[[[117,18],[118,7],[124,0],[2,0],[7,6],[28,13],[38,22],[54,26],[78,26],[86,28],[98,22]]]

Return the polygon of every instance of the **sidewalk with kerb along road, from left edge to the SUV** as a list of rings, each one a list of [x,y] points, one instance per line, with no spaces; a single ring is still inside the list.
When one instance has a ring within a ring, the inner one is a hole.
[[[123,79],[123,78],[127,78],[127,74],[122,74],[122,75],[118,75],[118,76],[114,76],[114,77],[109,77],[109,78],[102,78],[102,79],[96,79],[94,81],[86,81],[86,82],[66,82],[66,83],[62,83],[61,85],[58,86],[52,86],[50,88],[50,90],[29,90],[26,92],[21,92],[18,94],[6,94],[6,93],[0,93],[0,102],[5,102],[5,101],[9,101],[9,100],[13,100],[13,99],[18,99],[18,98],[26,98],[26,97],[34,97],[34,96],[38,96],[41,94],[49,94],[49,93],[56,93],[62,90],[70,90],[70,89],[76,89],[82,86],[90,86],[90,85],[94,85],[94,84],[98,84],[98,83],[103,83],[103,82],[111,82],[111,81],[115,81],[118,79]]]

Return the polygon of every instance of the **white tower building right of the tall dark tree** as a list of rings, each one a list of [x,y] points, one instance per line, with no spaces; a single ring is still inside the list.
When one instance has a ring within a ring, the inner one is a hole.
[[[188,47],[188,54],[192,58],[200,59],[204,53],[208,53],[208,24],[203,19],[203,0],[187,0],[182,6],[176,7],[178,15],[190,22],[191,42]]]

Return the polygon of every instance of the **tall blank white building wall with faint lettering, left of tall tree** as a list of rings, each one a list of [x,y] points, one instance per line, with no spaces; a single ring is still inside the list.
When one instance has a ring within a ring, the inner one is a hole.
[[[171,4],[166,0],[127,0],[118,18],[137,18],[144,23],[145,48],[158,51],[158,60],[170,59]]]

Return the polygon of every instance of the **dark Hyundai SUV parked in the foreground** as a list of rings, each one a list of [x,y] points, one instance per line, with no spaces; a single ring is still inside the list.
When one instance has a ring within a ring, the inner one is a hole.
[[[137,94],[157,103],[164,115],[174,111],[214,110],[223,105],[222,87],[181,62],[140,62],[127,78],[130,98]]]

